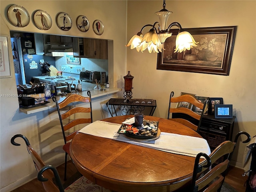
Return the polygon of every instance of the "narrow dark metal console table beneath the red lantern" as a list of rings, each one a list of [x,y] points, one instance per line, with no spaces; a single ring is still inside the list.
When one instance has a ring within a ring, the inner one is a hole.
[[[122,115],[130,115],[134,113],[140,113],[145,110],[145,107],[149,107],[150,109],[150,116],[153,116],[154,111],[156,110],[156,100],[154,99],[131,99],[129,102],[124,102],[124,98],[111,98],[106,103],[108,106],[108,111],[110,115],[113,117],[113,114],[109,108],[114,108],[114,113],[116,113],[116,107],[120,110]]]

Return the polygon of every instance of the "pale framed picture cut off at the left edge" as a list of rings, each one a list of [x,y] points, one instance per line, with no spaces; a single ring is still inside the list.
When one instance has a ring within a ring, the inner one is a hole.
[[[0,78],[11,77],[8,42],[7,36],[0,35]]]

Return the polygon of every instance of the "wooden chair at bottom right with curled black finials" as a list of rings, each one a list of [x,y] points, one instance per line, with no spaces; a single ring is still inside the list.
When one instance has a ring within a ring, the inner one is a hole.
[[[227,173],[232,153],[236,147],[236,142],[240,135],[246,135],[247,139],[243,143],[250,141],[250,135],[247,132],[238,132],[234,142],[225,141],[222,142],[217,148],[215,148],[208,156],[205,153],[198,153],[195,159],[194,171],[192,177],[191,190],[192,192],[220,192],[222,184]],[[220,157],[228,154],[228,158],[223,162],[217,164],[212,169],[210,166],[216,162]],[[205,160],[200,162],[200,158],[204,157]],[[200,176],[204,172],[203,176]]]

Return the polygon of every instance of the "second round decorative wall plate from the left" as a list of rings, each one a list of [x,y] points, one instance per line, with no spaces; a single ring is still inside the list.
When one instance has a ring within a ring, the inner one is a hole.
[[[47,12],[37,10],[34,13],[34,23],[39,29],[48,30],[52,26],[52,18]]]

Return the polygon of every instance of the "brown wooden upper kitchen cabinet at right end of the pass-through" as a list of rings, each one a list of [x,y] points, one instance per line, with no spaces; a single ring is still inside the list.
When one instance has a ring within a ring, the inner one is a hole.
[[[108,59],[108,40],[77,38],[74,40],[73,52],[75,57]]]

